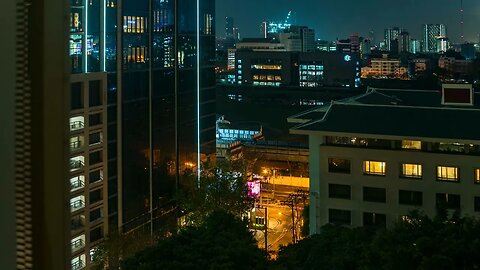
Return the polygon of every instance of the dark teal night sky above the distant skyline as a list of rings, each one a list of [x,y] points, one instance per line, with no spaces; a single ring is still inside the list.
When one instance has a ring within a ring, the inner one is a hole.
[[[376,41],[383,29],[406,28],[421,38],[424,23],[444,23],[453,42],[460,40],[460,0],[217,0],[217,36],[225,36],[225,17],[235,20],[242,37],[259,37],[263,18],[285,20],[296,12],[296,24],[315,29],[316,38],[335,40],[358,32],[375,31]],[[480,34],[480,0],[464,0],[465,39],[477,42]]]

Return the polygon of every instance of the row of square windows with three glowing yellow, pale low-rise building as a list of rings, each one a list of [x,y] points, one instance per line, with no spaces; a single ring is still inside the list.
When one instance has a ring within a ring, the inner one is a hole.
[[[386,175],[387,163],[385,161],[363,161],[363,173],[366,175]],[[437,166],[437,180],[439,181],[460,181],[460,169],[454,166]],[[342,158],[328,159],[328,172],[330,173],[351,173],[351,161]],[[400,164],[400,177],[416,178],[423,177],[423,166],[421,164],[402,163]],[[474,171],[475,183],[480,183],[480,168]]]

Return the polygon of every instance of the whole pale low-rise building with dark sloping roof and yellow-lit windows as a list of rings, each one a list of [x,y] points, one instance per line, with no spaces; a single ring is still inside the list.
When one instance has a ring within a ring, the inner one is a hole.
[[[327,223],[389,227],[412,210],[478,217],[478,97],[465,84],[369,89],[289,118],[291,133],[309,136],[310,234]]]

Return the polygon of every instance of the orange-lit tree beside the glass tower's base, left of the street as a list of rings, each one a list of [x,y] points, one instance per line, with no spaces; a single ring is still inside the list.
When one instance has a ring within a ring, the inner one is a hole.
[[[180,182],[177,201],[187,224],[200,224],[214,211],[226,211],[240,217],[253,207],[248,197],[245,168],[241,163],[204,164],[198,187],[195,175]]]

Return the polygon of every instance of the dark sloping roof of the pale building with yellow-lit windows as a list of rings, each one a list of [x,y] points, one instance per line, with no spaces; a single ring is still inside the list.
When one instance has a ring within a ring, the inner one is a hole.
[[[480,140],[480,94],[473,106],[442,105],[441,91],[369,89],[288,118],[295,134],[346,133]]]

